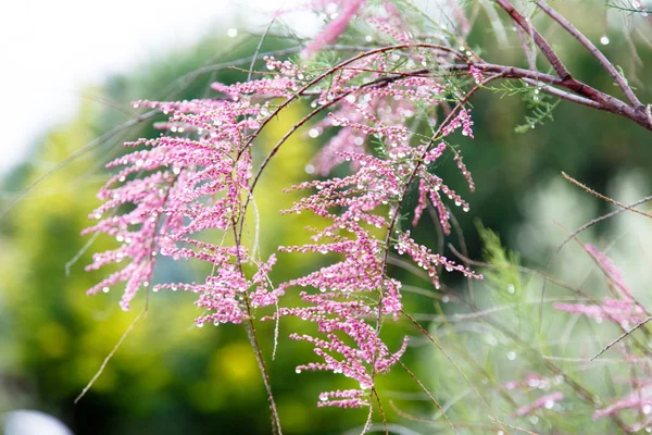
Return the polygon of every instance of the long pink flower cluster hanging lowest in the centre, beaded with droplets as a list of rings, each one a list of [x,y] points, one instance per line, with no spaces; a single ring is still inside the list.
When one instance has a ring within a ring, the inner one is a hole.
[[[386,227],[387,219],[376,209],[396,200],[403,188],[401,176],[391,162],[365,154],[343,153],[355,159],[360,170],[344,178],[314,181],[294,188],[316,191],[298,201],[288,212],[312,211],[329,217],[333,224],[315,231],[314,245],[281,247],[287,252],[338,253],[343,259],[306,276],[281,284],[313,287],[318,294],[301,293],[306,307],[281,308],[279,315],[294,315],[313,322],[324,338],[292,334],[293,339],[309,341],[324,362],[300,365],[297,370],[323,370],[341,373],[358,381],[360,389],[349,390],[347,400],[337,391],[321,396],[321,406],[367,406],[360,399],[364,390],[374,387],[374,375],[387,373],[405,351],[408,339],[396,352],[378,336],[376,322],[381,315],[397,316],[402,309],[400,283],[385,276],[381,240],[365,226]],[[333,213],[333,209],[339,209]],[[331,400],[337,398],[337,400]]]

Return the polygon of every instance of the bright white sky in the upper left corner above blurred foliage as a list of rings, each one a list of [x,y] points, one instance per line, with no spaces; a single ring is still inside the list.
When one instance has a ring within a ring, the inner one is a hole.
[[[82,90],[175,47],[241,23],[262,32],[297,0],[4,0],[0,2],[0,175],[71,119]],[[301,27],[306,28],[305,22]],[[314,23],[313,23],[314,25]],[[240,32],[243,29],[240,28]]]

